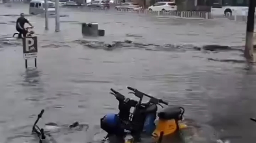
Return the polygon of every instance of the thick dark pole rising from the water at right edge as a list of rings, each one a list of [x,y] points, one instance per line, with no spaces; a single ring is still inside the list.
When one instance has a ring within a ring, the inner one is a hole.
[[[255,19],[255,0],[249,0],[249,10],[247,16],[247,28],[246,28],[246,47],[244,49],[245,58],[254,62],[253,58],[253,32],[254,32],[254,19]]]

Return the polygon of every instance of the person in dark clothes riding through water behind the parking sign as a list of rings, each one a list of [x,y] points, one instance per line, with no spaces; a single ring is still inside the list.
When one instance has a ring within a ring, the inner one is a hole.
[[[27,34],[27,30],[24,28],[25,23],[28,23],[32,27],[31,23],[24,17],[24,14],[21,13],[16,21],[16,30],[19,32],[18,38],[22,38],[22,35],[25,37]]]

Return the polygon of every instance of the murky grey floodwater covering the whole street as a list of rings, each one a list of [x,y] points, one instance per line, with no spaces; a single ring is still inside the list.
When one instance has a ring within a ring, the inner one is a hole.
[[[184,107],[193,126],[186,142],[256,139],[249,120],[256,116],[256,76],[242,57],[244,22],[63,8],[61,32],[54,18],[45,31],[43,17],[27,17],[39,49],[38,68],[29,60],[26,70],[21,40],[12,34],[15,15],[28,14],[28,5],[0,5],[0,11],[0,142],[36,142],[31,127],[41,109],[40,126],[85,125],[53,131],[55,142],[87,142],[87,131],[99,132],[100,118],[117,112],[110,88],[135,98],[126,94],[128,85]],[[106,35],[83,38],[82,22],[98,23]]]

